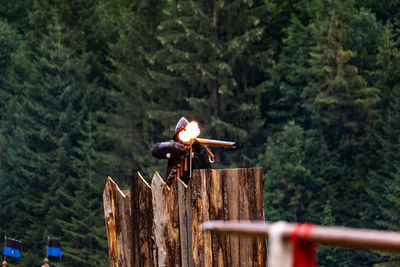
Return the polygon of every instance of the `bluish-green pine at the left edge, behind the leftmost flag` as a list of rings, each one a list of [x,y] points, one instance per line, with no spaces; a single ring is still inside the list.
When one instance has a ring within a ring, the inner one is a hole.
[[[47,156],[34,147],[37,140],[33,136],[38,128],[32,124],[27,113],[30,111],[27,109],[30,104],[28,89],[24,86],[24,79],[19,80],[32,68],[25,48],[21,45],[11,57],[4,89],[1,90],[2,100],[7,102],[4,102],[1,120],[3,142],[0,200],[3,208],[0,216],[4,235],[13,235],[22,240],[23,244],[28,240],[29,246],[37,249],[35,240],[41,239],[37,233],[43,231],[43,226],[37,224],[36,216],[43,215],[39,203],[41,186],[47,183],[47,170],[43,164]],[[31,229],[37,232],[29,240],[27,233]],[[24,253],[24,261],[34,262],[34,257],[29,252]]]

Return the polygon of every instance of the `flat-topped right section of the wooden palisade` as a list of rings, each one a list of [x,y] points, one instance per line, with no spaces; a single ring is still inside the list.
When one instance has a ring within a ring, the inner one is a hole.
[[[261,168],[194,170],[187,200],[195,266],[266,266],[265,240],[198,232],[208,220],[264,220]]]

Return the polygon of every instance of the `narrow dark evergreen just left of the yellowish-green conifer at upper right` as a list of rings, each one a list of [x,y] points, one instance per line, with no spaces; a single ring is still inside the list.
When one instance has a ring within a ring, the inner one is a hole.
[[[293,17],[279,61],[271,70],[271,86],[263,95],[262,114],[272,132],[279,131],[290,120],[304,126],[309,122],[302,92],[309,79],[310,52],[315,44],[311,27]]]

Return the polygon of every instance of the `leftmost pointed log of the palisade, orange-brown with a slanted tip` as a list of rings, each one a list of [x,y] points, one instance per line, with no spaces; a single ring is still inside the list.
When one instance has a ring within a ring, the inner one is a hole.
[[[104,216],[108,237],[109,262],[112,267],[132,266],[132,228],[129,196],[111,179],[103,192]]]

